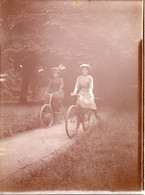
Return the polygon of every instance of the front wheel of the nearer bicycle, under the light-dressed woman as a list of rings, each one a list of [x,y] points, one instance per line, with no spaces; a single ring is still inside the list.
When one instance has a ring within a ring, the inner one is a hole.
[[[78,130],[78,109],[75,105],[69,107],[65,118],[65,130],[71,139],[77,134]]]

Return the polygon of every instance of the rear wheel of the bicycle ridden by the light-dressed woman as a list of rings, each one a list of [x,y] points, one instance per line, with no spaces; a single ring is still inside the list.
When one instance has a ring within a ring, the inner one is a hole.
[[[91,110],[84,110],[82,118],[82,127],[84,131],[87,131],[90,127]]]

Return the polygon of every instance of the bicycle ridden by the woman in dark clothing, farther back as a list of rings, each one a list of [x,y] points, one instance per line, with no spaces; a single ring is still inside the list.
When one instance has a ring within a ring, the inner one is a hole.
[[[58,123],[62,123],[64,120],[64,106],[61,103],[58,111],[52,109],[52,98],[54,95],[58,94],[45,92],[45,95],[49,97],[48,104],[44,104],[40,110],[40,121],[44,128],[48,128],[53,124],[54,119],[56,118]]]

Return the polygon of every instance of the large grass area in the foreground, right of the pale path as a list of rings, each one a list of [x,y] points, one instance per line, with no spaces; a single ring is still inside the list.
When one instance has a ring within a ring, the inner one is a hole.
[[[111,111],[102,119],[102,129],[78,136],[43,169],[13,179],[5,190],[140,190],[137,113]]]

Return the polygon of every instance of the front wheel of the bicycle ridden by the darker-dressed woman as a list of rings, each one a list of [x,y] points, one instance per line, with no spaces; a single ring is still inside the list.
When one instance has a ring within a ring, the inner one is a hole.
[[[44,104],[40,110],[40,121],[43,127],[48,128],[53,123],[53,110],[48,104]]]

